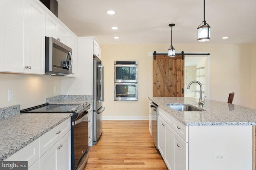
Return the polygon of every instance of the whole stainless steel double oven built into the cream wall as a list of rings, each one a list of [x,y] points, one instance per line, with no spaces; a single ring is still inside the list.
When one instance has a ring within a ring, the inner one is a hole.
[[[138,100],[138,61],[114,62],[114,100]]]

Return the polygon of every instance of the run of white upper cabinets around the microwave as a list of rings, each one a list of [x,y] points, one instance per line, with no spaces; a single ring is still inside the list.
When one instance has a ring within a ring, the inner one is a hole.
[[[0,72],[44,74],[47,36],[73,49],[76,76],[77,36],[39,0],[1,0],[0,23]]]

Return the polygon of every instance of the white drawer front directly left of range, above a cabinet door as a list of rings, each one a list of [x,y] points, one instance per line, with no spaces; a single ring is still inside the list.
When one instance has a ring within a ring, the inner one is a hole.
[[[40,157],[70,131],[70,118],[40,137]]]

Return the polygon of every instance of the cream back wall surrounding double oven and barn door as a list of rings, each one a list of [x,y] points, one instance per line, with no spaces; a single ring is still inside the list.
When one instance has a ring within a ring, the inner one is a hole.
[[[148,115],[148,96],[152,96],[152,57],[150,51],[167,51],[170,45],[102,45],[102,61],[105,66],[104,115]],[[253,107],[251,96],[251,48],[252,45],[176,44],[176,51],[209,52],[210,99],[227,102],[234,91],[234,104]],[[114,101],[114,61],[138,61],[138,101]],[[253,65],[255,66],[255,65]],[[255,75],[255,74],[254,74]]]

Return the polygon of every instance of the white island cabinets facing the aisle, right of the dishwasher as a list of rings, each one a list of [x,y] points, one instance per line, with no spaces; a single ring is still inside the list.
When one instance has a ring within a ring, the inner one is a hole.
[[[158,150],[169,170],[188,170],[188,143],[158,115]]]

